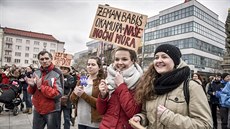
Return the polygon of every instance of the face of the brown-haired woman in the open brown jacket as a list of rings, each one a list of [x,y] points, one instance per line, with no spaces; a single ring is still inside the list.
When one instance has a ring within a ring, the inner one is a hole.
[[[100,70],[97,60],[95,59],[89,59],[87,62],[87,72],[89,75],[95,75],[98,74],[98,71]]]

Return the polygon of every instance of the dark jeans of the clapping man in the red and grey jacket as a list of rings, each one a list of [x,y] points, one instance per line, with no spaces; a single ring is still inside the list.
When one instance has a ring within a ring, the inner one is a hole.
[[[60,129],[60,121],[60,111],[41,115],[36,110],[34,110],[32,129],[44,129],[45,125],[47,125],[47,129]]]

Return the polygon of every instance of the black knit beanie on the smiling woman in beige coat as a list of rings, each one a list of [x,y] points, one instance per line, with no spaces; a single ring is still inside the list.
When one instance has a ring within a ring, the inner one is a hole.
[[[162,44],[156,48],[154,55],[158,52],[166,53],[175,65],[180,64],[181,52],[178,47],[171,44]]]

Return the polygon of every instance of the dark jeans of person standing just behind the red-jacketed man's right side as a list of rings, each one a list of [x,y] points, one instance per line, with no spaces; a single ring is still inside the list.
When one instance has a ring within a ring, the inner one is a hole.
[[[62,106],[61,107],[61,112],[63,111],[63,117],[64,117],[64,129],[70,129],[70,112],[71,112],[71,108],[67,108]],[[61,122],[60,122],[61,124]]]

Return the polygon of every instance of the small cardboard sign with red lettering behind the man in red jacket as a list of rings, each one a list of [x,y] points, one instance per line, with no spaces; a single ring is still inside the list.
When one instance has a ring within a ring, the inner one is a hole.
[[[54,53],[53,64],[56,66],[66,66],[69,67],[71,65],[72,55],[62,52]]]

